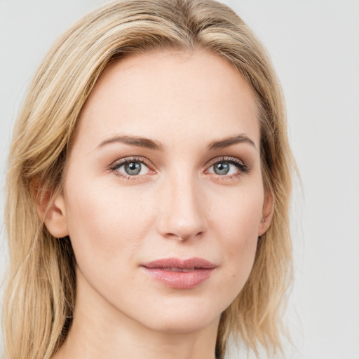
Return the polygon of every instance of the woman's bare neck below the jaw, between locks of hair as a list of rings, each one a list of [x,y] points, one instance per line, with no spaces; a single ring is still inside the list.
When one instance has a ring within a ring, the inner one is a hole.
[[[154,330],[78,280],[72,326],[53,359],[215,359],[218,324],[219,318],[191,332]]]

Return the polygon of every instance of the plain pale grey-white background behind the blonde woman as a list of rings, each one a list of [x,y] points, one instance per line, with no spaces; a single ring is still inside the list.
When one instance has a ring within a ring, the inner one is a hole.
[[[302,177],[303,191],[294,191],[295,281],[287,312],[294,348],[285,358],[359,359],[359,1],[223,2],[271,54]],[[1,187],[29,79],[54,39],[97,4],[0,0]],[[0,241],[2,278],[4,229]]]

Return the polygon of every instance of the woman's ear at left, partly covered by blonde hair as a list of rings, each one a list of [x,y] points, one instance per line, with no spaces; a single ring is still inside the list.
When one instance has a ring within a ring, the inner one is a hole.
[[[48,229],[55,238],[63,238],[69,235],[67,217],[65,211],[64,196],[60,194],[55,200],[50,200],[50,194],[45,196],[37,203],[37,212]]]

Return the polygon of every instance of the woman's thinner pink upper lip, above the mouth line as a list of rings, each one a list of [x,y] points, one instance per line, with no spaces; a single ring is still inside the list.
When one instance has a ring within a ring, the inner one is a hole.
[[[179,268],[179,269],[213,269],[217,266],[212,262],[209,262],[203,258],[189,258],[189,259],[179,259],[179,258],[163,258],[156,259],[152,262],[144,263],[142,266],[154,269],[154,268]]]

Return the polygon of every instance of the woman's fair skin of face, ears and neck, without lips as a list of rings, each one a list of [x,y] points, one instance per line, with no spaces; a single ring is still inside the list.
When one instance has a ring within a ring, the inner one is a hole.
[[[123,135],[162,149],[111,142]],[[208,149],[238,135],[252,143]],[[128,157],[146,163],[139,175],[116,165]],[[74,321],[54,358],[215,358],[219,316],[270,222],[255,95],[243,76],[200,50],[112,63],[81,111],[64,191],[45,219],[53,236],[70,236],[77,262]],[[174,289],[141,267],[168,257],[216,268],[200,285]]]

